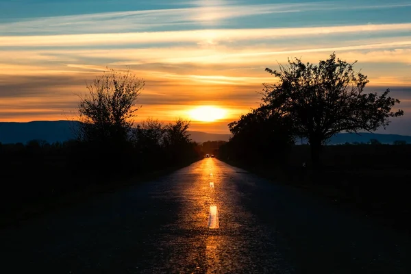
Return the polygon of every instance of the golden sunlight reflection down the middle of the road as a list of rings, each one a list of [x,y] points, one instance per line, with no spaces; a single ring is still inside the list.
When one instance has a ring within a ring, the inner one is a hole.
[[[195,174],[192,182],[179,190],[183,202],[175,227],[184,233],[164,239],[164,245],[173,250],[169,271],[244,273],[245,269],[277,269],[276,257],[280,255],[272,253],[274,239],[240,203],[241,194],[232,180],[234,171],[219,163],[206,158],[196,164],[188,173]]]

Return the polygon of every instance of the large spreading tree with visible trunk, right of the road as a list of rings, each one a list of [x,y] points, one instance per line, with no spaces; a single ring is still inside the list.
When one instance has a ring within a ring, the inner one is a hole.
[[[318,65],[295,58],[288,59],[288,66],[280,65],[279,71],[266,68],[279,82],[263,84],[262,100],[290,118],[296,136],[308,138],[314,165],[319,164],[322,146],[338,132],[373,132],[385,128],[390,117],[403,115],[402,110],[392,111],[399,100],[388,97],[389,89],[382,95],[363,93],[369,80],[354,71],[356,62],[332,53]]]

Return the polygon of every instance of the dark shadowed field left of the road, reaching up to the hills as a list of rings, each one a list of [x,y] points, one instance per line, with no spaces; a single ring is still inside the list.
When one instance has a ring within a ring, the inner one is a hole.
[[[198,160],[66,144],[0,147],[0,226],[162,175]]]

